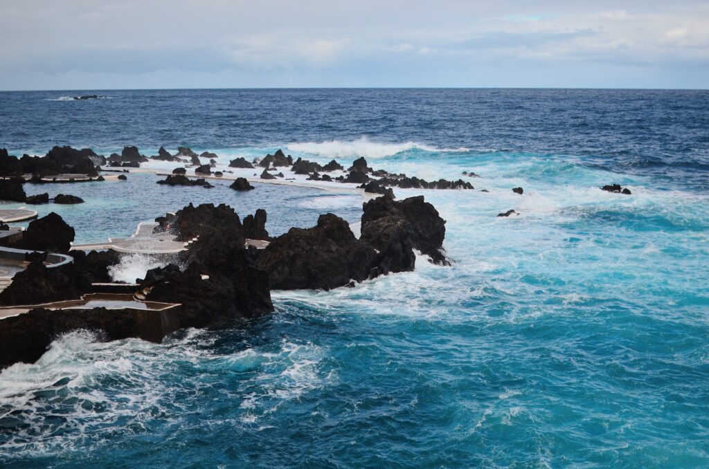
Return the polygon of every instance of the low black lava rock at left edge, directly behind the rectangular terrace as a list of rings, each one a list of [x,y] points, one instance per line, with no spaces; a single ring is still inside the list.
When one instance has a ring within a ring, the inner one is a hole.
[[[38,259],[13,276],[12,283],[0,293],[0,305],[38,305],[60,300],[80,298],[74,264],[48,269]],[[87,287],[87,286],[85,286]]]

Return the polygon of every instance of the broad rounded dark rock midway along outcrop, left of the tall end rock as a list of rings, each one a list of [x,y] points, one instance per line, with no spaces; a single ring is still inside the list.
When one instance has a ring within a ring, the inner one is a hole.
[[[330,290],[369,278],[376,252],[355,238],[345,220],[328,213],[316,227],[291,228],[259,254],[256,265],[272,288]]]

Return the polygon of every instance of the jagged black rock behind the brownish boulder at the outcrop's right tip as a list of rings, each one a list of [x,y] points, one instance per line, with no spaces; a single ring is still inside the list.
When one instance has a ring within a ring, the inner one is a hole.
[[[442,254],[445,239],[445,220],[423,196],[410,197],[400,202],[389,196],[377,197],[364,203],[362,239],[367,239],[367,226],[381,217],[401,219],[411,225],[413,247],[430,257],[434,264],[450,265]]]

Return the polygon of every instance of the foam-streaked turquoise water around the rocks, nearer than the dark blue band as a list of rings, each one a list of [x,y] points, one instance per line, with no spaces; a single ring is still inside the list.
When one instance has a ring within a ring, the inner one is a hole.
[[[289,153],[323,161],[365,156],[370,166],[424,178],[481,175],[471,182],[488,193],[424,192],[447,220],[453,266],[419,258],[414,272],[355,288],[274,292],[269,317],[179,332],[159,345],[103,343],[86,331],[61,337],[37,363],[0,373],[1,461],[55,468],[709,465],[702,157],[695,154],[687,176],[676,177],[679,166],[663,174],[657,166],[631,170],[581,151],[313,141],[291,143]],[[212,148],[262,154],[289,145],[281,142]],[[155,179],[62,187],[87,200],[62,208],[62,216],[79,239],[93,241],[111,230],[128,235],[134,222],[201,197],[229,197],[242,216],[266,208],[267,227],[277,233],[312,225],[319,213],[350,221],[361,213],[362,197],[346,192],[262,184],[245,196],[219,187],[162,193]],[[632,196],[598,189],[615,182]],[[523,196],[510,191],[515,186]],[[138,202],[131,193],[150,196]],[[398,198],[415,193],[396,191]],[[510,208],[521,215],[496,217]]]

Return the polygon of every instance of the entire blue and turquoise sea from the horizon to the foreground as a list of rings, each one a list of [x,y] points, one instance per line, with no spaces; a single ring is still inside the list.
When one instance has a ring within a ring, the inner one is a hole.
[[[0,93],[0,147],[294,156],[437,179],[450,268],[274,292],[273,315],[163,344],[55,341],[0,373],[17,467],[707,467],[709,92],[213,90]],[[42,190],[77,240],[189,201],[266,208],[279,234],[362,196],[157,176]],[[604,193],[621,183],[632,196]],[[510,191],[523,186],[525,194]],[[397,196],[416,192],[396,191]],[[8,204],[8,206],[15,206]],[[495,215],[513,208],[508,219]],[[141,265],[128,259],[125,268]]]

